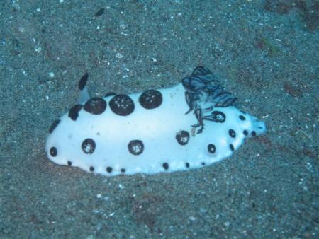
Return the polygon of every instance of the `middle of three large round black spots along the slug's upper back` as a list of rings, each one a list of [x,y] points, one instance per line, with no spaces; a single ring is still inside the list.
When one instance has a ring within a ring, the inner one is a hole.
[[[109,105],[116,115],[121,116],[130,115],[135,109],[133,100],[128,95],[123,94],[114,96]]]

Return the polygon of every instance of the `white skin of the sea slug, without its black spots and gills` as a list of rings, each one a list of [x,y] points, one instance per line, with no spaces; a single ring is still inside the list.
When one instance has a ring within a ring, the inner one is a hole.
[[[225,122],[204,120],[203,132],[196,134],[192,125],[197,123],[197,119],[193,112],[185,115],[189,106],[181,83],[159,91],[163,97],[162,105],[150,110],[138,103],[140,93],[129,95],[135,103],[135,110],[128,116],[114,114],[109,105],[101,115],[91,115],[82,109],[76,121],[67,114],[63,115],[60,124],[47,137],[45,150],[48,158],[60,165],[67,165],[70,161],[72,166],[86,171],[94,167],[94,173],[102,175],[118,175],[123,173],[121,169],[129,175],[172,172],[228,158],[233,153],[230,144],[236,150],[247,137],[243,134],[244,130],[249,133],[248,136],[252,132],[257,135],[266,130],[263,122],[229,106],[214,108],[226,115]],[[104,100],[108,103],[111,97]],[[240,115],[245,116],[245,120],[240,120]],[[230,129],[235,131],[235,138],[229,135]],[[190,134],[186,145],[177,143],[176,135],[181,130]],[[94,139],[94,153],[82,151],[82,141],[86,138]],[[128,142],[133,139],[140,139],[144,144],[140,155],[128,151]],[[208,152],[208,144],[216,146],[215,153]],[[49,153],[52,146],[57,148],[55,157]],[[163,167],[164,163],[169,165],[167,169]],[[111,173],[107,172],[108,167],[112,168]]]

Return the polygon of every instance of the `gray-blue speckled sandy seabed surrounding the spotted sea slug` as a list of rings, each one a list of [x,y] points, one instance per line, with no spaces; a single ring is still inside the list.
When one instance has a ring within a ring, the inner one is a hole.
[[[318,238],[318,1],[96,2],[0,3],[0,238]],[[197,65],[267,134],[180,173],[102,177],[45,157],[84,72],[104,95]]]

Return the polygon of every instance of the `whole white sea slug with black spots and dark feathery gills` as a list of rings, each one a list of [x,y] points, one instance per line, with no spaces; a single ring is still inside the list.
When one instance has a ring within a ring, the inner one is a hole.
[[[45,152],[59,165],[101,175],[189,170],[228,158],[266,132],[202,66],[172,88],[104,98],[89,97],[87,79],[79,81],[79,104],[49,129]]]

